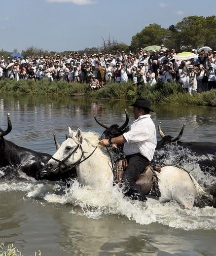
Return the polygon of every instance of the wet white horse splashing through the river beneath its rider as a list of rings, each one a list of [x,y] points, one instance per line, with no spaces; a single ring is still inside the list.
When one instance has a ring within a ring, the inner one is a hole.
[[[75,132],[69,127],[69,137],[48,161],[48,172],[60,172],[76,167],[77,178],[83,185],[93,188],[111,187],[113,173],[106,148],[98,145],[98,134]],[[148,201],[166,203],[176,201],[185,208],[192,208],[197,195],[205,193],[186,171],[165,166],[157,174],[161,197],[146,195]]]

